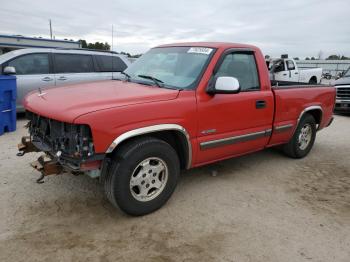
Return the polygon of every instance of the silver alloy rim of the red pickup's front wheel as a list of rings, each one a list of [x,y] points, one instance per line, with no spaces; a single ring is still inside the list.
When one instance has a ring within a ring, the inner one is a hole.
[[[162,193],[168,181],[168,167],[157,157],[141,161],[130,178],[132,196],[142,202],[150,201]]]

